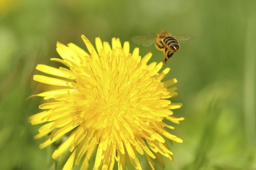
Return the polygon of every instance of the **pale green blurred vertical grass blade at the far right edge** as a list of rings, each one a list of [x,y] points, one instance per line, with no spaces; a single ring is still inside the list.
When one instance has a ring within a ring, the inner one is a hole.
[[[255,66],[256,66],[256,46],[254,37],[256,36],[256,22],[253,18],[247,19],[247,31],[245,42],[245,67],[244,67],[244,113],[246,142],[253,147],[256,141],[255,127]]]

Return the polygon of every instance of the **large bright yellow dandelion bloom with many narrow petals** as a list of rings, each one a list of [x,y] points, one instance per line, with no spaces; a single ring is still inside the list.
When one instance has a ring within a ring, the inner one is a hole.
[[[60,87],[36,94],[47,102],[39,106],[44,111],[29,117],[32,125],[45,123],[35,138],[51,133],[39,147],[72,132],[52,154],[56,159],[70,150],[63,169],[72,169],[80,161],[81,169],[88,169],[89,164],[94,169],[113,169],[115,163],[118,169],[126,169],[128,163],[142,169],[139,154],[152,169],[156,161],[164,167],[162,156],[172,160],[173,155],[166,140],[182,140],[168,132],[174,127],[163,120],[179,124],[184,119],[171,111],[182,104],[169,101],[177,95],[176,88],[170,87],[177,80],[162,81],[170,69],[159,72],[162,63],[147,64],[151,53],[141,59],[139,48],[130,53],[129,42],[122,46],[118,38],[112,39],[112,47],[96,38],[96,49],[85,36],[82,40],[88,52],[73,43],[57,42],[62,59],[51,60],[69,69],[36,66],[54,78],[34,75],[35,81]]]

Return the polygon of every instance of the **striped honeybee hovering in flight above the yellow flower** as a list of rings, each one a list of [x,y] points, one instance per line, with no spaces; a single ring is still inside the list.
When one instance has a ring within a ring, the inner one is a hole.
[[[174,53],[180,50],[180,44],[177,40],[185,41],[190,39],[187,36],[173,36],[167,31],[157,33],[155,36],[135,36],[132,38],[134,43],[143,46],[150,46],[155,43],[157,50],[163,52],[163,65],[171,58]]]

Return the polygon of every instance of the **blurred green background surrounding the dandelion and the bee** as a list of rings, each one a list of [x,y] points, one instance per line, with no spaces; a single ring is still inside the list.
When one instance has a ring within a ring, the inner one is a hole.
[[[59,57],[56,41],[85,48],[81,34],[123,42],[163,30],[192,37],[164,65],[178,79],[173,101],[184,105],[175,113],[185,117],[173,132],[184,142],[173,143],[165,169],[256,169],[255,7],[239,0],[0,0],[0,169],[61,166],[50,159],[54,145],[40,150],[42,139],[33,139],[39,126],[27,122],[42,101],[26,100],[44,90],[32,75],[36,64]],[[139,47],[141,56],[163,60],[154,46]]]

